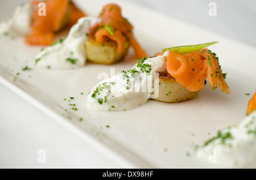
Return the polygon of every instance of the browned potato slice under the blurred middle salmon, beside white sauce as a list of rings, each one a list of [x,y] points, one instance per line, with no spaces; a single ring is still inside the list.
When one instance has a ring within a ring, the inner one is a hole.
[[[117,54],[117,44],[114,41],[97,42],[95,40],[85,41],[86,57],[94,63],[109,65],[121,60],[127,54],[125,52]]]

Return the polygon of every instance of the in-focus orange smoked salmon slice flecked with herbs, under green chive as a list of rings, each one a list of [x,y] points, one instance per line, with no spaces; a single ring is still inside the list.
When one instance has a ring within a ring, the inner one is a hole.
[[[168,50],[167,72],[183,87],[196,92],[204,87],[204,80],[208,78],[210,87],[230,93],[218,63],[218,57],[208,49],[179,54]]]

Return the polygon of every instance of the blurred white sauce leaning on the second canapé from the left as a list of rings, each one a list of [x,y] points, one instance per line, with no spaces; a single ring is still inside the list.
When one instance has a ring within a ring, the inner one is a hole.
[[[59,69],[84,66],[86,62],[86,33],[100,22],[101,19],[93,17],[79,19],[69,31],[67,38],[55,45],[48,46],[36,56],[36,66]]]

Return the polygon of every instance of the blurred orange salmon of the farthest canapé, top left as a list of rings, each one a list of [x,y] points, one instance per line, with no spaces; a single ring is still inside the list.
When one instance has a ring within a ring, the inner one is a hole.
[[[38,13],[39,1],[31,1],[32,13],[31,33],[25,38],[28,45],[51,45],[55,34],[61,29],[71,28],[85,14],[71,0],[47,0],[46,14]]]

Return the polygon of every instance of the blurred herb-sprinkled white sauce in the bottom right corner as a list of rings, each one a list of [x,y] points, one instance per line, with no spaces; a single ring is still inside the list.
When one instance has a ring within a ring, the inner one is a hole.
[[[256,168],[256,110],[238,126],[225,128],[197,149],[203,161],[215,159],[223,168]]]

